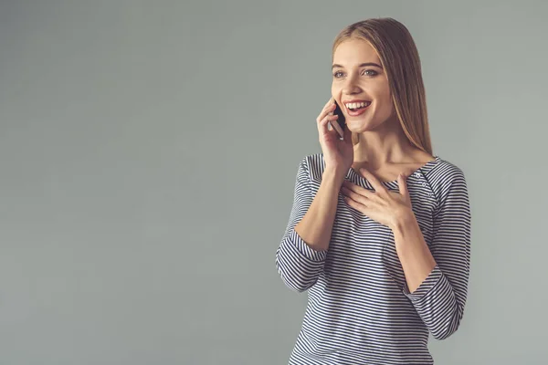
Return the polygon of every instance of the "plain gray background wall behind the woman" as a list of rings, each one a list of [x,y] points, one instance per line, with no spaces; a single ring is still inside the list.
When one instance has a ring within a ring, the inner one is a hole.
[[[287,363],[306,296],[275,251],[332,40],[374,16],[415,37],[469,183],[435,360],[545,363],[545,2],[59,0],[0,5],[0,364]]]

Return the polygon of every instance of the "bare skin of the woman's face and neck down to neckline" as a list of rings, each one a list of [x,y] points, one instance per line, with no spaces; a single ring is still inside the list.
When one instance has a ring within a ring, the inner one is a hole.
[[[378,66],[364,66],[373,63]],[[361,39],[342,42],[333,54],[332,98],[339,105],[349,99],[372,100],[364,114],[353,117],[345,108],[347,128],[360,135],[353,147],[353,168],[370,171],[416,170],[433,159],[407,140],[395,114],[388,78],[373,47]],[[406,166],[408,165],[408,166]],[[398,173],[393,173],[395,180]]]

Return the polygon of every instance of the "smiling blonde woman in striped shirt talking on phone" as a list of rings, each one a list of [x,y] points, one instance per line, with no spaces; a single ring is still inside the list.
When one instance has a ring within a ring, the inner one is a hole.
[[[406,26],[347,26],[332,61],[332,99],[317,119],[322,153],[300,162],[276,253],[284,283],[309,294],[290,364],[432,364],[428,334],[454,333],[467,298],[465,177],[432,154]]]

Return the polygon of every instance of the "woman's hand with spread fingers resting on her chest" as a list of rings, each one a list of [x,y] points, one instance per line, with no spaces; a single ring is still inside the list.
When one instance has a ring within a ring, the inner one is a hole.
[[[372,184],[374,192],[345,180],[341,193],[344,195],[344,201],[351,207],[391,228],[397,222],[406,219],[409,214],[413,214],[406,176],[398,176],[399,193],[396,193],[386,189],[373,173],[364,168],[360,169],[360,172]]]

